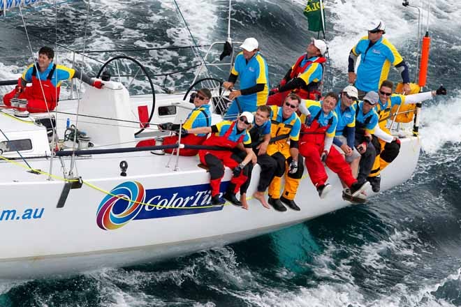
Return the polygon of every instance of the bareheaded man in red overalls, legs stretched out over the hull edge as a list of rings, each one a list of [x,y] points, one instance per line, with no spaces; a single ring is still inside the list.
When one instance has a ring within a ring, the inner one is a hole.
[[[322,199],[331,189],[331,185],[326,182],[328,175],[323,162],[346,184],[353,197],[369,186],[367,181],[358,182],[353,177],[349,164],[342,154],[332,147],[337,126],[337,115],[334,110],[338,100],[336,93],[330,92],[321,101],[306,100],[305,105],[300,108],[303,114],[300,153],[305,157],[309,177]]]

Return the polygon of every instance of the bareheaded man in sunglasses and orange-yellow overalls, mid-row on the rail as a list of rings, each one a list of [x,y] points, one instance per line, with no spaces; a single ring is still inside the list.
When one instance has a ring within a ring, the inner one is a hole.
[[[283,106],[270,106],[272,109],[270,128],[272,141],[267,153],[277,161],[277,169],[269,185],[268,202],[277,211],[286,211],[282,202],[291,209],[300,211],[300,207],[294,201],[304,171],[302,157],[298,150],[301,121],[296,111],[300,103],[300,96],[291,93],[286,96]],[[280,196],[281,177],[283,176],[285,176],[285,186]]]

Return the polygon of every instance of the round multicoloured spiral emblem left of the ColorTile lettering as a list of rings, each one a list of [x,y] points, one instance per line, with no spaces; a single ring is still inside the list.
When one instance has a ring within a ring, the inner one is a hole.
[[[102,230],[115,230],[135,218],[142,209],[145,190],[137,181],[119,184],[106,195],[96,212],[96,223]]]

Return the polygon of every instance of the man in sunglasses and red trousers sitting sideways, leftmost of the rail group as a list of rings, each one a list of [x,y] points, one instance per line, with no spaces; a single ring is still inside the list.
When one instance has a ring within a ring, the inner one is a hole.
[[[182,125],[184,129],[198,128],[198,127],[210,127],[212,114],[210,112],[210,99],[212,93],[210,89],[199,89],[193,97],[193,105],[195,108],[187,115],[186,121]],[[177,130],[180,125],[177,123],[159,123],[159,129],[161,130]],[[181,137],[181,144],[189,145],[200,145],[207,139],[207,133],[193,134],[189,133],[184,137]],[[163,145],[176,144],[179,140],[177,135],[170,135],[163,137]],[[144,140],[138,142],[136,147],[154,146],[155,140]],[[166,153],[172,153],[177,149],[164,149]],[[154,151],[152,151],[154,153]],[[180,156],[196,156],[198,149],[180,149]]]

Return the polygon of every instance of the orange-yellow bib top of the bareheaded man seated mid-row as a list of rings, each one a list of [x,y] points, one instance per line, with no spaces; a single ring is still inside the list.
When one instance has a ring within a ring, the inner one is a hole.
[[[267,153],[272,156],[277,151],[289,151],[290,145],[287,143],[288,137],[290,136],[291,129],[295,125],[297,117],[289,123],[283,121],[277,121],[277,115],[279,114],[279,107],[277,105],[271,105],[272,119],[270,120],[270,144],[268,146]]]

